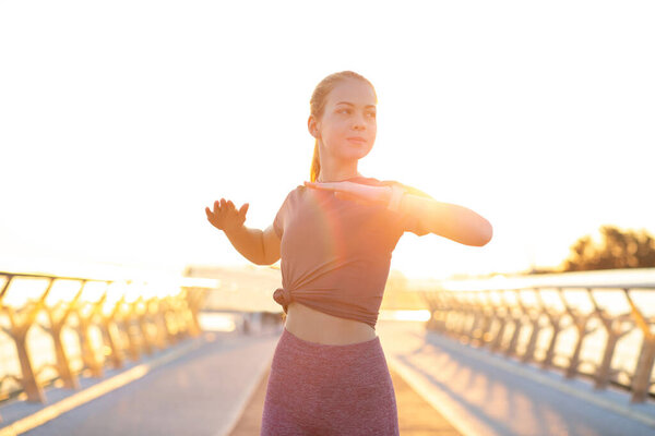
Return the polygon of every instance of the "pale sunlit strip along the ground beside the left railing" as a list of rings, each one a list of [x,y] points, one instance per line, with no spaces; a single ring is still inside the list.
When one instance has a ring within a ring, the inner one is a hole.
[[[123,373],[117,374],[111,378],[99,382],[80,392],[75,392],[70,397],[64,398],[56,403],[47,405],[46,408],[39,410],[36,413],[33,413],[28,416],[25,416],[21,420],[17,420],[5,427],[0,428],[0,436],[16,436],[22,433],[28,432],[39,425],[47,423],[56,419],[57,416],[66,413],[72,409],[75,409],[84,403],[90,402],[107,392],[110,392],[115,389],[120,388],[131,382],[134,382],[144,375],[146,375],[152,370],[157,366],[162,366],[165,363],[168,363],[182,354],[198,349],[204,341],[202,339],[194,340],[184,346],[180,346],[175,350],[169,351],[168,353],[154,359],[152,362],[142,363],[141,365],[134,366]]]

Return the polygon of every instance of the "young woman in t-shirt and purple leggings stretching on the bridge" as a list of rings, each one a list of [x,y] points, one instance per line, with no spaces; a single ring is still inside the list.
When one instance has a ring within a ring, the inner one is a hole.
[[[391,254],[405,231],[466,245],[491,240],[475,211],[396,181],[361,175],[376,141],[377,96],[361,75],[325,77],[310,100],[310,182],[265,230],[243,226],[248,204],[205,208],[210,222],[258,265],[282,257],[273,298],[286,314],[275,349],[262,435],[398,435],[391,375],[376,322]]]

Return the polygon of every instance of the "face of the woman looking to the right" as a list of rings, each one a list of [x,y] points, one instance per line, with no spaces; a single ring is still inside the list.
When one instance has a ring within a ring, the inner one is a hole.
[[[323,116],[310,117],[310,132],[322,143],[320,150],[337,160],[360,159],[376,142],[376,94],[357,78],[341,81],[327,95]],[[313,129],[313,131],[312,131]]]

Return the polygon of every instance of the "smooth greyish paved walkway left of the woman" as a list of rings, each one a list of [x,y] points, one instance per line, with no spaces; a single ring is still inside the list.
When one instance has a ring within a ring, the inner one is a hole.
[[[126,386],[74,408],[25,433],[29,436],[221,436],[238,419],[260,375],[270,364],[277,334],[217,334],[176,360]],[[175,351],[175,346],[169,352]],[[165,354],[164,354],[165,356]],[[147,363],[147,362],[146,362]],[[2,408],[3,424],[27,412],[55,407],[16,402]],[[67,391],[69,397],[73,396]],[[2,428],[0,427],[0,434]]]

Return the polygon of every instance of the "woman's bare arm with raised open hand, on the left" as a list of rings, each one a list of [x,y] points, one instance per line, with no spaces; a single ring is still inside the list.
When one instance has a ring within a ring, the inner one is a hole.
[[[243,257],[255,265],[272,265],[279,259],[279,238],[273,226],[263,231],[243,226],[248,206],[246,203],[237,210],[231,201],[221,198],[214,202],[213,211],[205,207],[205,213],[212,226],[223,230]]]

